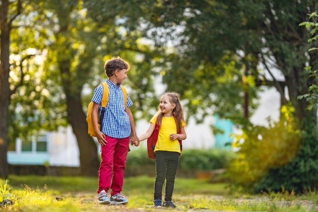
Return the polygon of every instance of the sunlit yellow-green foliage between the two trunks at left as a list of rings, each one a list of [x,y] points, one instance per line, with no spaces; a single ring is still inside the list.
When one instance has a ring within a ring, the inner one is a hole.
[[[10,34],[9,144],[17,137],[27,140],[40,130],[66,126],[67,116],[61,87],[55,83],[56,72],[44,66],[55,60],[45,44],[49,26],[41,22],[36,5],[23,1],[22,7],[23,14],[16,17]]]

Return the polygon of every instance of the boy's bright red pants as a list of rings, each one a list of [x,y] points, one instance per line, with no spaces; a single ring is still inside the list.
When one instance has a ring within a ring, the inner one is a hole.
[[[123,184],[129,139],[112,138],[106,135],[106,145],[102,146],[102,161],[99,169],[98,193],[111,189],[110,195],[120,194]]]

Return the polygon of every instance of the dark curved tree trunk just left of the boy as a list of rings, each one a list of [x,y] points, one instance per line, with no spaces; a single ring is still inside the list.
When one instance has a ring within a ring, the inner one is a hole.
[[[72,44],[66,37],[69,33],[70,13],[77,3],[74,1],[68,7],[60,5],[57,12],[60,31],[55,35],[58,46],[57,61],[62,80],[62,87],[67,99],[68,122],[72,126],[76,136],[79,152],[80,152],[80,168],[81,175],[97,176],[99,168],[99,160],[97,153],[97,145],[88,135],[86,115],[83,112],[81,92],[83,84],[81,78],[77,75],[72,76],[71,61],[74,59],[72,55]],[[66,53],[68,52],[68,53]],[[86,77],[86,76],[83,76]]]

